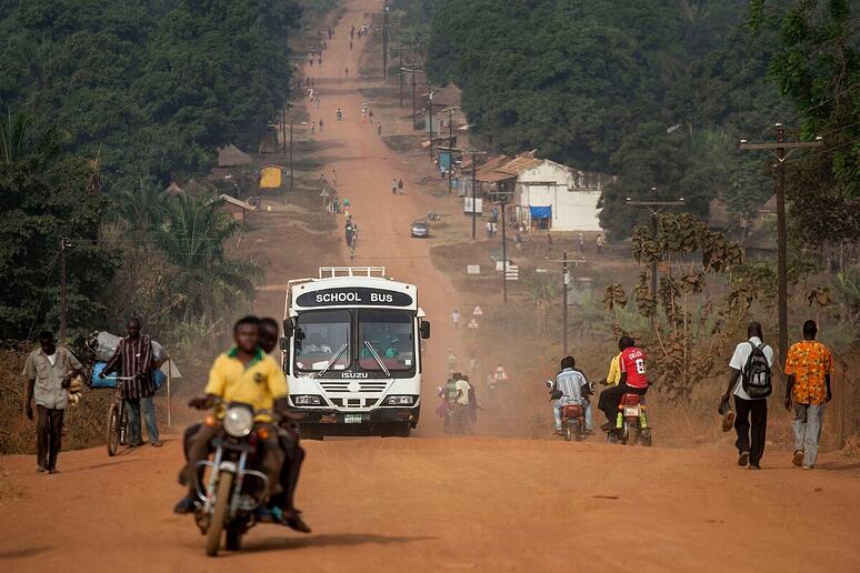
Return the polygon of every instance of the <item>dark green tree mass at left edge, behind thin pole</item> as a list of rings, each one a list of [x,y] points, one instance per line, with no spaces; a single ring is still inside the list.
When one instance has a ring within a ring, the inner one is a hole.
[[[68,244],[68,326],[86,329],[104,313],[100,292],[114,260],[99,242],[107,204],[88,185],[92,163],[66,150],[68,135],[39,130],[22,112],[0,117],[0,336],[27,339],[59,319],[59,247]]]

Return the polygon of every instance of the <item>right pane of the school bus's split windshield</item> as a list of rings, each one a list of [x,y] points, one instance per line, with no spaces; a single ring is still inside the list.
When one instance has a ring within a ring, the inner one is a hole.
[[[358,353],[362,370],[412,370],[416,363],[412,316],[396,310],[359,312]]]

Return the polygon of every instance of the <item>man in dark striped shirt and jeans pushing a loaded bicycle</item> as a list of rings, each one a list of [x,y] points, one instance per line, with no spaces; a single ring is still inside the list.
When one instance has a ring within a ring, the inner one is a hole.
[[[139,319],[131,319],[126,328],[129,335],[120,340],[117,351],[99,375],[104,378],[119,370],[122,376],[133,378],[122,383],[122,398],[129,411],[130,445],[137,446],[143,443],[140,428],[142,409],[149,443],[154,448],[161,448],[156,424],[156,405],[152,402],[152,395],[156,393],[152,378],[152,340],[148,334],[140,333]]]

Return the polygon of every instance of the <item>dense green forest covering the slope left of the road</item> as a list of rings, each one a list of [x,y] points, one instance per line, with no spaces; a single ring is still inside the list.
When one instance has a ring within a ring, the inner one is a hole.
[[[327,4],[328,6],[328,4]],[[292,0],[0,0],[0,339],[129,312],[209,332],[254,268],[213,197],[164,194],[289,94]],[[116,323],[116,322],[114,322]]]

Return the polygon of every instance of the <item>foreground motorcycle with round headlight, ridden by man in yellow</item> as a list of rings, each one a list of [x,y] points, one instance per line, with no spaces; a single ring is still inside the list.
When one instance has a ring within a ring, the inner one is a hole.
[[[254,511],[264,503],[269,492],[269,479],[262,472],[250,469],[259,464],[262,443],[269,438],[268,428],[254,429],[254,412],[247,404],[227,404],[223,419],[207,416],[209,426],[220,425],[212,439],[213,455],[197,463],[209,469],[203,484],[198,484],[201,503],[194,512],[200,532],[206,535],[206,554],[216,556],[226,533],[224,546],[238,551],[242,536],[257,524]]]

